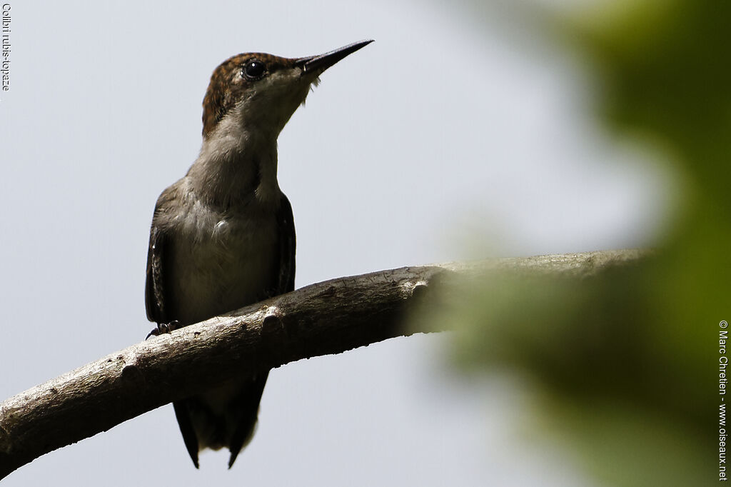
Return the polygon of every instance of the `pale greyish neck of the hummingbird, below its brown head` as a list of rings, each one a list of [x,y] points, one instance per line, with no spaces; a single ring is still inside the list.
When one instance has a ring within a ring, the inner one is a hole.
[[[224,118],[203,140],[198,159],[188,172],[201,200],[231,208],[278,205],[276,135],[242,129]]]

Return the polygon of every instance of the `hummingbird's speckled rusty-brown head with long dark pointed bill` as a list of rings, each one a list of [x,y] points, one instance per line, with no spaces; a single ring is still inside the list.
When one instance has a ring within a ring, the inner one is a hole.
[[[373,42],[363,40],[319,56],[282,58],[265,53],[238,54],[211,75],[203,99],[203,137],[228,132],[260,132],[276,137],[302,104],[319,75],[345,56]]]

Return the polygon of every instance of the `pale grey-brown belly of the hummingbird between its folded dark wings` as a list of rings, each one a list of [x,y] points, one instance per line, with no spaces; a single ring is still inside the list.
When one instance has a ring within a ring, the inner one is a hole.
[[[260,301],[276,285],[275,212],[217,212],[195,203],[173,223],[171,290],[181,324]]]

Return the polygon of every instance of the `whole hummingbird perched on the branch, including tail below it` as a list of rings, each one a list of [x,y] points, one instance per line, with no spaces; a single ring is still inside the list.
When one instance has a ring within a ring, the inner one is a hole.
[[[213,71],[203,143],[188,173],[157,200],[145,305],[151,334],[191,325],[295,287],[295,224],[277,183],[277,137],[319,75],[368,45],[320,56],[239,54]],[[254,434],[268,373],[173,402],[198,468],[203,448],[227,447],[229,468]]]

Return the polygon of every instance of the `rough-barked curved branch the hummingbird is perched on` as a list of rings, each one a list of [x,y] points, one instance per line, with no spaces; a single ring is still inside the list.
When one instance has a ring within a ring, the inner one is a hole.
[[[454,291],[454,279],[485,279],[493,271],[581,279],[643,255],[586,252],[344,277],[143,341],[0,403],[0,479],[56,448],[233,377],[395,336],[441,331],[418,323],[407,327],[405,317],[420,301]]]

